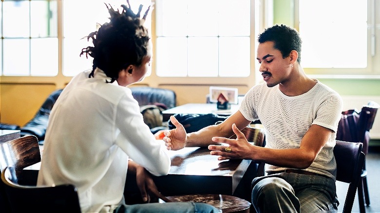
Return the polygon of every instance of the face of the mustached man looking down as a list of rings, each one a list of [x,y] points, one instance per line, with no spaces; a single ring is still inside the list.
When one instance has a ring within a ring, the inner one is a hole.
[[[290,74],[290,56],[283,58],[281,52],[274,49],[274,42],[260,43],[257,48],[257,60],[260,72],[268,87],[274,87],[287,80]]]

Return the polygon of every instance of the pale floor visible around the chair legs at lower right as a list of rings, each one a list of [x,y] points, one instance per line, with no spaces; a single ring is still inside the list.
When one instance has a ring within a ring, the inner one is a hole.
[[[370,205],[366,206],[367,213],[380,213],[380,146],[371,147],[366,156],[367,183],[369,187]],[[343,203],[347,193],[348,184],[337,182],[337,195],[341,204],[338,207],[339,212],[343,210]],[[358,195],[355,197],[353,213],[359,213]]]

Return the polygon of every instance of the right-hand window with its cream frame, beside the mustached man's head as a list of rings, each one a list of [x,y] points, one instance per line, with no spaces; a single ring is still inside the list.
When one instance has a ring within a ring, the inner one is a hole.
[[[305,71],[379,74],[376,20],[371,18],[374,5],[373,0],[296,0],[295,19],[303,39],[301,63]]]

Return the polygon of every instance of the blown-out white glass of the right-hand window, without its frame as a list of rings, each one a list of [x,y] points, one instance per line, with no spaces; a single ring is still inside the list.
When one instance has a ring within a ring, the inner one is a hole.
[[[367,67],[367,1],[299,2],[304,68]]]

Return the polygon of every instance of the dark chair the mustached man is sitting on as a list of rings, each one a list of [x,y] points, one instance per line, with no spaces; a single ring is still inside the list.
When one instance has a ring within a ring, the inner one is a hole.
[[[354,205],[365,159],[362,147],[361,142],[343,141],[337,141],[334,147],[334,156],[337,162],[337,181],[349,183],[342,213],[351,213]]]

